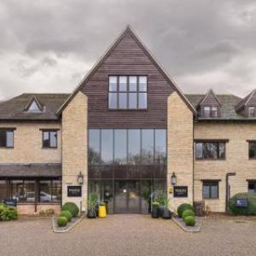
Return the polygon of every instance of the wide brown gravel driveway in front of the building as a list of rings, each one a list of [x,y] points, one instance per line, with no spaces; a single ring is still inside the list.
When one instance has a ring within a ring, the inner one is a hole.
[[[55,234],[49,218],[0,223],[1,255],[255,255],[256,221],[206,219],[200,233],[143,215],[86,219]]]

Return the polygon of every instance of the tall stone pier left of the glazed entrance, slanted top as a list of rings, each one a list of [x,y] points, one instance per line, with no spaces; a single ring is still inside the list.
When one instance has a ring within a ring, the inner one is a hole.
[[[87,205],[87,96],[79,92],[62,113],[62,203],[73,201],[85,211]],[[68,185],[79,185],[84,175],[81,197],[67,197]]]

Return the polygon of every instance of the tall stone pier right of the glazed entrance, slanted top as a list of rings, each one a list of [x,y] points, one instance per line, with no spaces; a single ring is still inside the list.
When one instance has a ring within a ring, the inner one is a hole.
[[[177,186],[188,186],[187,198],[174,198],[171,208],[193,202],[193,113],[183,99],[173,92],[168,97],[167,125],[167,188],[170,192],[172,172],[177,176]]]

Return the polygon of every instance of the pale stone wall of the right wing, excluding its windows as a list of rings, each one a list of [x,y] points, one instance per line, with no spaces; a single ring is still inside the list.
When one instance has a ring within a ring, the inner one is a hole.
[[[247,140],[256,140],[253,123],[195,123],[195,139],[227,139],[225,160],[195,160],[195,201],[202,200],[202,179],[220,179],[218,199],[205,200],[212,212],[225,211],[225,175],[230,177],[230,195],[247,192],[247,179],[256,179],[255,160],[248,159]]]

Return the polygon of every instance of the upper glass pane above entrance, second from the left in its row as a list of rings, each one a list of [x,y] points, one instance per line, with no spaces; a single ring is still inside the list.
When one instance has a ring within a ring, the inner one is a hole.
[[[102,163],[113,162],[113,130],[102,129]]]

